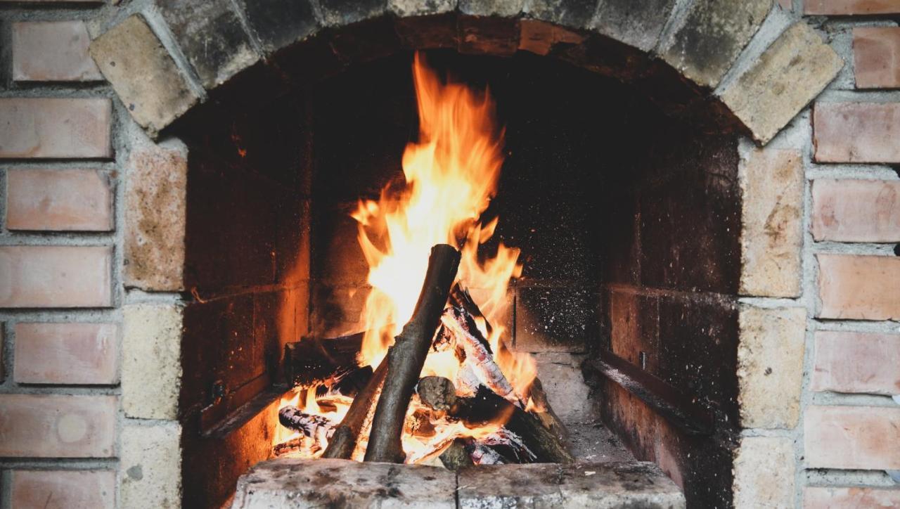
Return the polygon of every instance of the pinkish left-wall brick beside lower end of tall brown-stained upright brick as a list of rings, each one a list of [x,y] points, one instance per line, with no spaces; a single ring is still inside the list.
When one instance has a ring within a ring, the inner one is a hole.
[[[112,248],[0,247],[0,308],[112,306]]]

